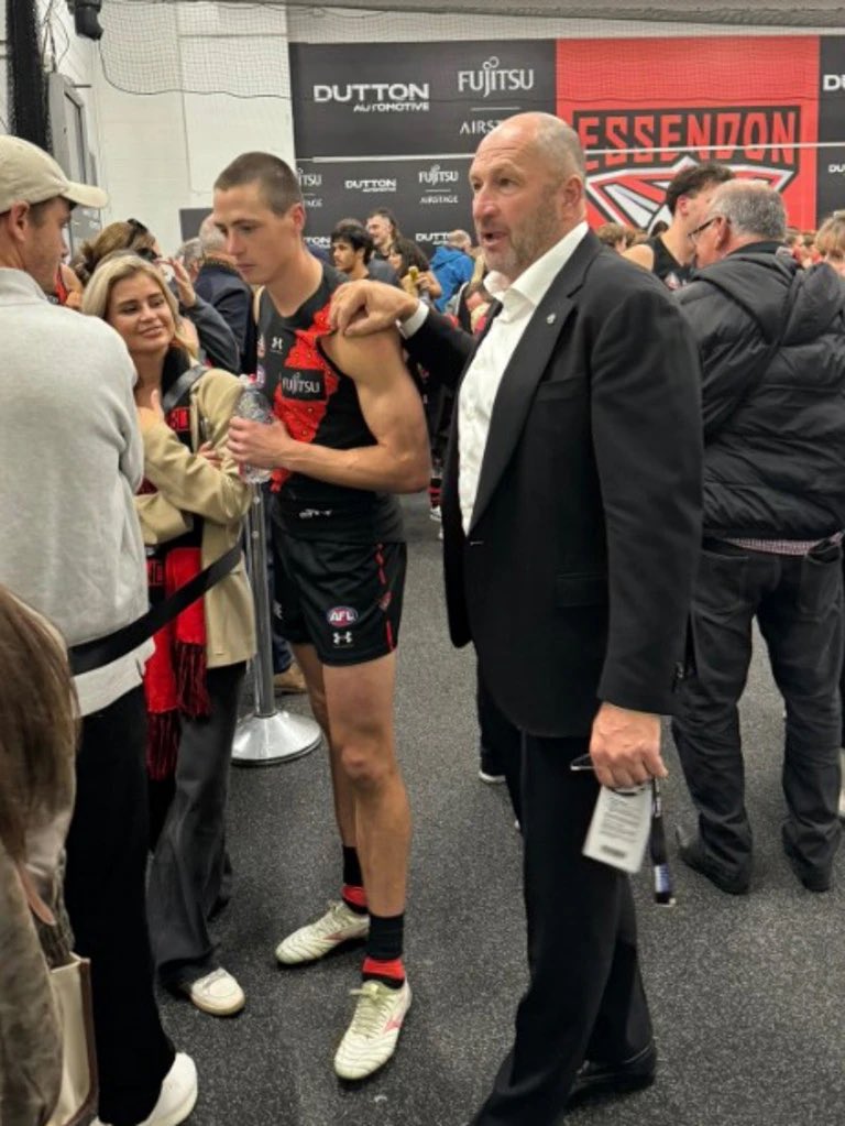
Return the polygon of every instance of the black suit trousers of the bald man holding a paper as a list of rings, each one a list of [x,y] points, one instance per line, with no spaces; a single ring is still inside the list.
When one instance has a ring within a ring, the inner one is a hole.
[[[621,1062],[651,1040],[628,877],[582,856],[599,784],[569,763],[587,749],[586,739],[523,735],[530,983],[473,1126],[552,1126],[585,1058]]]

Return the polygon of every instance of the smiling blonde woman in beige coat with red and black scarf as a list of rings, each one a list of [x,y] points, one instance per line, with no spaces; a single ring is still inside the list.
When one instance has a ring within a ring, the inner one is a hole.
[[[117,330],[138,374],[145,481],[136,503],[155,602],[241,534],[251,493],[225,454],[241,387],[233,375],[196,365],[164,278],[133,254],[98,266],[82,311]],[[227,894],[228,762],[245,662],[255,647],[243,560],[155,642],[144,680],[147,769],[153,780],[174,775],[176,789],[150,877],[153,955],[167,988],[205,1012],[230,1016],[243,1008],[244,994],[215,957],[208,920]]]

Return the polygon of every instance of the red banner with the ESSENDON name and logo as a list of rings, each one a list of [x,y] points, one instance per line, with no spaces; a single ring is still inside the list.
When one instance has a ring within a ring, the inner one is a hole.
[[[816,36],[559,41],[557,113],[587,153],[591,224],[668,222],[672,177],[718,160],[811,226],[816,153],[800,146],[817,137],[818,69]]]

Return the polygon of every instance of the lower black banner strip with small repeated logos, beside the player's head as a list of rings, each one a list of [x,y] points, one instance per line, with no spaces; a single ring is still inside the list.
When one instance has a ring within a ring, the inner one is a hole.
[[[449,231],[471,233],[469,158],[440,160],[354,160],[297,164],[307,212],[305,235],[327,250],[332,229],[342,218],[366,223],[387,207],[399,229],[429,252]]]

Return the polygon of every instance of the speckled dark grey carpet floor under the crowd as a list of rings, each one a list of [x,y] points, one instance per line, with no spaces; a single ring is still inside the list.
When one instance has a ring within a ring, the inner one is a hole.
[[[162,995],[165,1025],[199,1070],[192,1126],[462,1126],[510,1043],[525,982],[520,838],[504,788],[477,777],[474,664],[448,642],[437,525],[419,498],[406,512],[396,724],[414,811],[414,1003],[399,1049],[368,1082],[340,1083],[332,1056],[360,953],[293,971],[273,958],[278,940],[339,891],[324,752],[233,768],[235,894],[215,933],[248,1006],[219,1020]],[[302,698],[287,703],[305,711]],[[578,1109],[566,1118],[573,1126],[845,1124],[845,865],[833,893],[813,895],[781,852],[781,701],[759,645],[743,727],[753,893],[723,895],[675,861],[677,905],[658,908],[648,875],[635,877],[659,1079]],[[690,822],[671,740],[667,759],[669,825]]]

